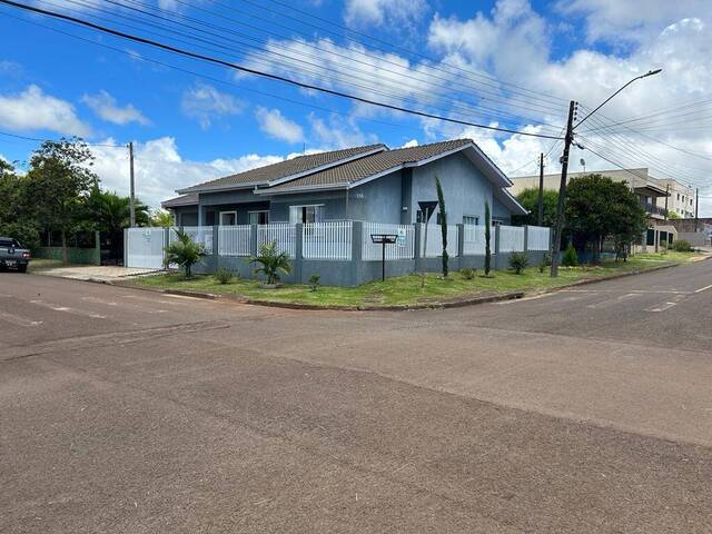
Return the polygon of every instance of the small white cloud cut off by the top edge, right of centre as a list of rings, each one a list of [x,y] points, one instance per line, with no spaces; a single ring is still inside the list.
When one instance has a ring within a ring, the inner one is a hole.
[[[346,0],[344,20],[353,28],[412,29],[427,10],[425,0]]]

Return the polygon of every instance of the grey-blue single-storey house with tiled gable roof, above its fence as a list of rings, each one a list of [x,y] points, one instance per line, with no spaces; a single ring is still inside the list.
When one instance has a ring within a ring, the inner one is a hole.
[[[437,199],[436,176],[449,224],[484,224],[485,201],[495,222],[526,214],[507,190],[510,179],[471,139],[299,156],[179,189],[180,196],[162,206],[180,226],[338,219],[415,224],[423,217],[418,201]]]

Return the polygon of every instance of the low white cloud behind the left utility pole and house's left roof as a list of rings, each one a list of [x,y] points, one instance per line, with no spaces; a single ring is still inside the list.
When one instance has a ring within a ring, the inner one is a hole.
[[[115,140],[106,139],[101,142],[113,145]],[[181,187],[285,159],[284,156],[247,154],[235,158],[191,161],[182,158],[176,140],[171,137],[135,142],[134,146],[136,195],[152,207],[175,197],[175,190]],[[92,169],[99,175],[101,187],[116,190],[120,195],[128,195],[129,166],[126,149],[118,144],[117,147],[91,147],[96,156]]]

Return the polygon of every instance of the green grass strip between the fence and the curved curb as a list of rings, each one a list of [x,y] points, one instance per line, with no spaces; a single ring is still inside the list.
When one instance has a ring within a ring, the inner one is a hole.
[[[234,294],[277,303],[322,306],[388,306],[442,303],[518,290],[536,291],[585,278],[601,278],[625,270],[688,261],[695,256],[695,254],[686,253],[640,254],[626,263],[606,261],[596,267],[562,267],[557,278],[551,278],[548,269],[540,273],[536,267],[527,268],[522,275],[515,275],[513,271],[493,271],[487,278],[482,276],[483,273],[478,270],[471,280],[465,279],[459,273],[452,273],[448,279],[443,279],[437,274],[428,274],[425,278],[425,287],[421,287],[422,279],[418,275],[388,278],[386,281],[370,281],[353,288],[324,286],[316,291],[312,291],[309,286],[304,285],[285,285],[278,289],[263,289],[257,280],[244,278],[236,278],[234,281],[222,285],[212,275],[198,275],[186,280],[177,273],[140,277],[134,279],[132,284],[212,294]]]

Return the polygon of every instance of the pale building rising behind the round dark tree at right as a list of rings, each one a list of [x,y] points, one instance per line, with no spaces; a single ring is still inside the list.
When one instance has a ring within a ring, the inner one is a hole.
[[[678,180],[661,179],[650,176],[647,168],[592,170],[589,172],[568,172],[568,179],[596,174],[607,176],[615,181],[626,181],[640,197],[641,204],[652,219],[665,217],[665,191],[668,191],[668,211],[682,218],[694,217],[695,190]],[[524,189],[538,188],[538,175],[511,177],[514,185],[510,188],[513,195]],[[544,175],[544,189],[558,190],[561,174]]]

